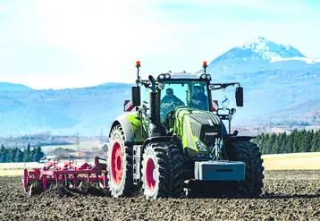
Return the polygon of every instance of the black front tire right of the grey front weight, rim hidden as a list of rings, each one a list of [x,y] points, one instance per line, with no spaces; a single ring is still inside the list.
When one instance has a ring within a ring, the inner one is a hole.
[[[237,184],[236,192],[243,197],[258,197],[264,186],[263,159],[257,144],[250,141],[233,141],[226,144],[229,160],[246,164],[245,180]]]

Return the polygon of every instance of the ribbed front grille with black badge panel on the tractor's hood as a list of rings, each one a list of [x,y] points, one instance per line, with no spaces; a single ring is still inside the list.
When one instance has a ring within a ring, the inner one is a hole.
[[[195,137],[214,145],[215,139],[221,137],[222,125],[219,117],[211,113],[195,113],[189,115],[191,130]]]

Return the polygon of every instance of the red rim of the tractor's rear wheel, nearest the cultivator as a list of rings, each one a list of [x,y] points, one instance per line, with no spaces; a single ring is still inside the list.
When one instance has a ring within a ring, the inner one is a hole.
[[[111,155],[111,172],[115,184],[122,181],[122,151],[121,145],[118,142],[114,143],[113,152]]]

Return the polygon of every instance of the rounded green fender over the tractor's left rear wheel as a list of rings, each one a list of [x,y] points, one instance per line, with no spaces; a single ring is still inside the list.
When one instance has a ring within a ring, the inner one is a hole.
[[[114,119],[114,122],[112,123],[109,137],[111,135],[111,132],[116,125],[121,125],[122,130],[124,133],[124,140],[128,142],[141,142],[143,141],[141,137],[141,132],[139,132],[141,127],[141,122],[138,118],[137,113],[129,113],[121,115]]]

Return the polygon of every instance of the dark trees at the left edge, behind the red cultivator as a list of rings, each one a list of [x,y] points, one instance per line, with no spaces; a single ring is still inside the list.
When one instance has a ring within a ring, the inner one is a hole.
[[[38,162],[44,156],[40,145],[31,148],[28,144],[22,151],[19,148],[6,149],[2,144],[0,149],[0,163]]]

